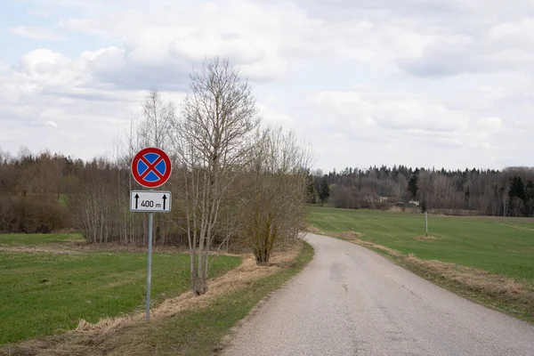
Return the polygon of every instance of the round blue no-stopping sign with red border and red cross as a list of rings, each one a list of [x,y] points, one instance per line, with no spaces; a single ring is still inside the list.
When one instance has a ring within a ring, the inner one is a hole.
[[[132,175],[145,188],[159,187],[171,176],[171,160],[155,147],[140,150],[132,161]]]

